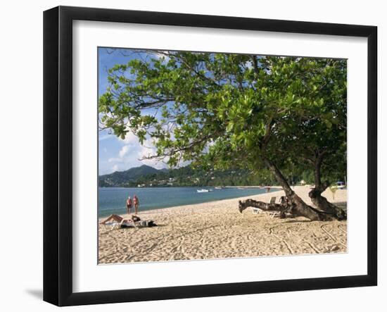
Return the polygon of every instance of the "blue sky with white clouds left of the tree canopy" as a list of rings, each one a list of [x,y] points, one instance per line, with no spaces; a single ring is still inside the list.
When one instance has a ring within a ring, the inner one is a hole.
[[[144,56],[133,53],[130,49],[99,48],[99,96],[106,92],[108,87],[108,70],[116,64],[127,63],[133,58]],[[152,144],[147,140],[144,146],[131,133],[125,139],[118,139],[110,135],[107,130],[99,131],[99,175],[127,170],[141,165],[155,168],[167,168],[165,163],[156,160],[140,161],[139,158],[153,154]]]

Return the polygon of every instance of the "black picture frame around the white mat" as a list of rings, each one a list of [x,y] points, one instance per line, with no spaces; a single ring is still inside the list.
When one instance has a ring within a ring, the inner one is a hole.
[[[72,21],[212,27],[367,38],[367,275],[186,285],[101,292],[72,291]],[[44,12],[44,301],[58,306],[377,284],[377,27],[211,15],[58,6]]]

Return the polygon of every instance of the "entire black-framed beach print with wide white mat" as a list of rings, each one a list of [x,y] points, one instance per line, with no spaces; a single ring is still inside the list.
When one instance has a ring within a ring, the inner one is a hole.
[[[377,282],[376,27],[44,12],[44,300]]]

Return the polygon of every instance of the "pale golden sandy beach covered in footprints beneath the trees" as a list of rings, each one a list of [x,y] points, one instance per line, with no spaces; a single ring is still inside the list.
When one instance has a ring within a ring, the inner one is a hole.
[[[312,205],[309,187],[294,187]],[[115,228],[99,225],[99,263],[174,261],[209,258],[256,257],[291,254],[346,252],[347,222],[310,222],[306,218],[271,218],[254,214],[252,208],[239,213],[238,201],[253,198],[269,202],[283,191],[140,212],[157,227]],[[335,199],[346,206],[347,191],[338,189]],[[126,216],[126,215],[122,215]]]

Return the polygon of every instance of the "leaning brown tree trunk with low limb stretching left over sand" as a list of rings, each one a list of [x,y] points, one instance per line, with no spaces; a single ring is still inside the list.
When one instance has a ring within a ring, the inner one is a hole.
[[[334,220],[335,216],[332,216],[330,213],[324,212],[324,211],[318,211],[317,209],[313,208],[312,206],[309,206],[305,204],[305,202],[300,199],[300,197],[291,189],[291,187],[288,185],[287,180],[285,179],[284,175],[282,175],[281,171],[272,161],[269,161],[267,158],[265,158],[265,165],[267,168],[269,168],[270,172],[276,177],[277,181],[281,185],[281,187],[284,189],[284,192],[286,194],[287,202],[286,204],[267,204],[263,203],[262,201],[254,201],[252,199],[248,199],[247,201],[240,201],[239,202],[239,211],[242,212],[244,209],[246,209],[248,206],[258,207],[265,211],[279,211],[283,214],[284,213],[291,213],[293,216],[303,216],[305,218],[308,218],[310,220]]]

